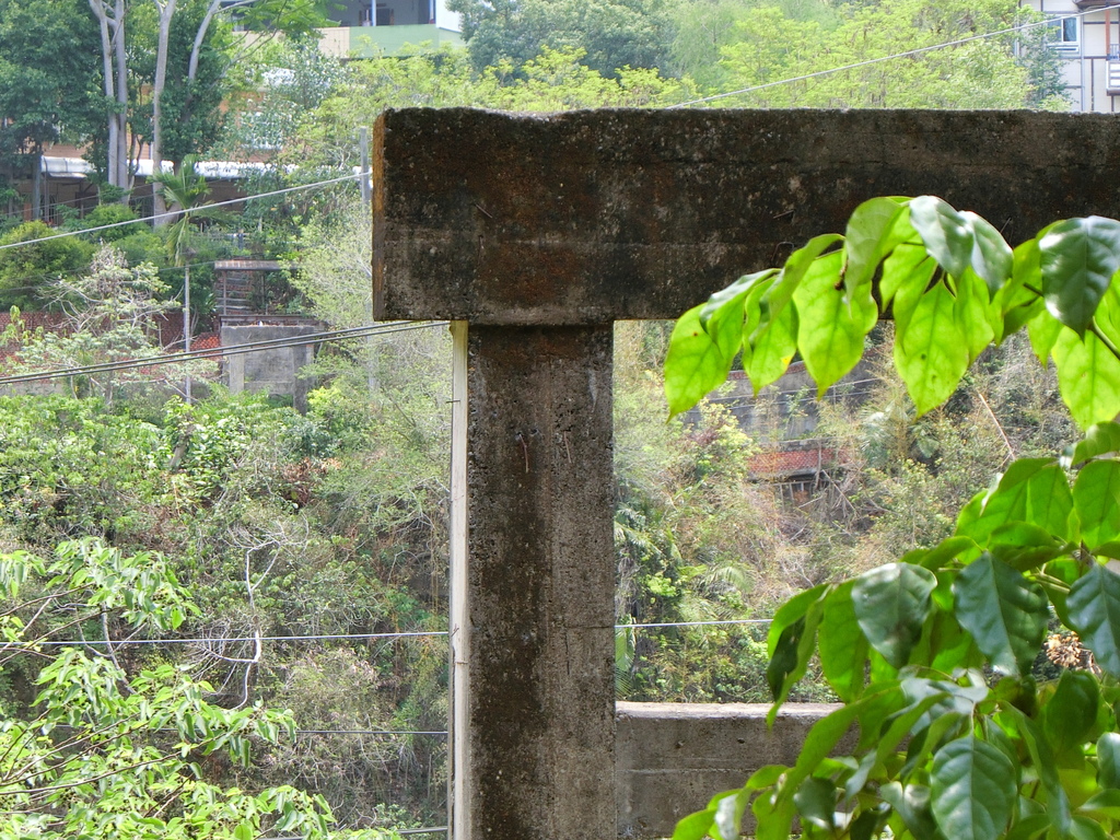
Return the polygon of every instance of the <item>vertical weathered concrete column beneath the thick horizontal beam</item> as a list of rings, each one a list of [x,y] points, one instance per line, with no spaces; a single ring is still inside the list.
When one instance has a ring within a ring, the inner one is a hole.
[[[612,327],[472,325],[465,346],[468,560],[452,645],[469,682],[455,690],[456,840],[607,840]]]

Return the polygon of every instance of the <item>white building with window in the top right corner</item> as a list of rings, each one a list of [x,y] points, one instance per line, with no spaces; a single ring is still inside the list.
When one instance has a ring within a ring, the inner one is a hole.
[[[1118,0],[1020,0],[1053,18],[1051,44],[1065,68],[1074,111],[1120,111]]]

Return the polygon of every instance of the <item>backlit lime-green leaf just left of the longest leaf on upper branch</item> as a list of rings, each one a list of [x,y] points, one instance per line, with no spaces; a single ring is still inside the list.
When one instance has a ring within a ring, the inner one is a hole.
[[[797,349],[816,382],[816,395],[848,373],[864,355],[864,337],[878,312],[870,306],[849,306],[838,288],[841,254],[815,260],[793,293],[797,307]]]

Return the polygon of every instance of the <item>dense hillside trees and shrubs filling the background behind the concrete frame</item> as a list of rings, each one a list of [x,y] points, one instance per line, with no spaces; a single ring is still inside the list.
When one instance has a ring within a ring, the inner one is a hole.
[[[125,16],[123,93],[85,60],[99,6]],[[156,131],[157,4],[67,0],[48,12],[44,0],[0,0],[0,197],[12,211],[0,224],[0,307],[22,310],[2,336],[3,375],[160,355],[151,320],[178,317],[186,269],[203,330],[214,262],[231,255],[293,263],[270,290],[283,311],[366,324],[370,214],[353,181],[310,185],[353,171],[360,129],[386,108],[665,106],[1027,19],[1006,0],[459,0],[466,50],[343,63],[301,35],[329,13],[323,3],[254,6],[243,26],[289,37],[246,53],[218,16],[194,76],[208,2],[180,0],[170,20],[159,119],[175,171],[160,180],[190,213],[153,228],[112,148],[122,125]],[[22,37],[29,20],[50,31]],[[76,46],[56,63],[46,40]],[[1026,36],[1017,46],[1001,36],[728,102],[1063,106],[1053,54]],[[24,222],[12,187],[58,140],[90,143],[102,203],[85,215],[41,208],[54,227]],[[309,188],[207,213],[195,155],[264,158],[249,193]],[[105,224],[119,226],[92,230]],[[59,231],[73,235],[38,241]],[[37,326],[41,312],[54,327]],[[867,337],[878,361],[858,393],[841,383],[818,409],[775,385],[755,403],[768,420],[744,430],[728,409],[741,400],[726,392],[668,423],[668,407],[651,411],[664,404],[669,329],[618,326],[619,697],[768,699],[767,619],[781,603],[936,544],[1008,460],[1074,436],[1054,373],[1027,364],[1025,342],[981,354],[961,391],[917,417],[874,352],[889,337]],[[332,343],[304,372],[316,383],[305,414],[224,393],[208,362],[0,398],[0,810],[18,814],[0,819],[0,837],[32,823],[43,837],[81,825],[178,838],[202,825],[235,840],[261,828],[314,834],[328,814],[347,829],[442,823],[447,370],[447,338],[429,328]],[[181,399],[187,375],[209,383],[204,399]],[[812,488],[755,469],[791,412],[816,414],[812,433],[838,454]],[[636,626],[696,622],[732,623]],[[77,680],[94,687],[91,704],[59,702]],[[834,696],[824,679],[791,690]],[[164,704],[137,717],[157,694]],[[25,768],[44,755],[43,793],[27,793]],[[142,783],[130,756],[151,760]],[[148,822],[111,824],[118,813]]]

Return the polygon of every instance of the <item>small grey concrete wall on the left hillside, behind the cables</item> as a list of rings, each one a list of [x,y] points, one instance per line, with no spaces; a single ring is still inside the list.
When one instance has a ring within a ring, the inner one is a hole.
[[[311,335],[308,325],[223,326],[222,346]],[[264,391],[272,396],[291,396],[297,411],[307,410],[307,392],[314,386],[299,379],[299,368],[315,358],[315,345],[277,347],[226,356],[224,379],[231,393]]]

